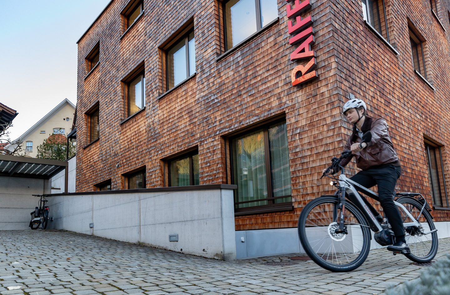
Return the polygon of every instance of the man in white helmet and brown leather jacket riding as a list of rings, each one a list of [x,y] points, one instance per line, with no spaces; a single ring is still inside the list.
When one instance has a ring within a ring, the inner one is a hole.
[[[352,156],[343,159],[340,165],[346,166],[354,156],[356,166],[362,171],[351,177],[351,180],[365,188],[378,185],[379,201],[396,237],[395,243],[387,246],[387,250],[409,253],[403,222],[394,204],[394,188],[401,175],[400,161],[389,137],[386,121],[371,118],[366,115],[366,111],[366,104],[361,99],[352,99],[342,107],[342,114],[353,124],[353,132],[345,145],[345,150],[351,150]],[[367,131],[372,133],[372,140],[361,143],[362,136]],[[331,171],[333,174],[336,172],[338,171]]]

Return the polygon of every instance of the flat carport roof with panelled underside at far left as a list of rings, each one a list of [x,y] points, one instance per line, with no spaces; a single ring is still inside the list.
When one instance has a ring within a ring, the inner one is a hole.
[[[0,176],[49,179],[67,167],[67,161],[0,155]]]

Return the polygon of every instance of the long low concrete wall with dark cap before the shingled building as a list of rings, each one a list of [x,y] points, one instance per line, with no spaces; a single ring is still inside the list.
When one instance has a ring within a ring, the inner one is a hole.
[[[226,185],[202,187],[214,189],[54,195],[48,203],[49,217],[53,217],[49,228],[207,258],[236,259],[233,190]],[[169,241],[173,234],[178,241]]]

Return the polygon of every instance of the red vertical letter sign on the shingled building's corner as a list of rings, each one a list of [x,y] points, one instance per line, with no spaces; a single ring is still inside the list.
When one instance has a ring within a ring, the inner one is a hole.
[[[286,2],[292,1],[293,0],[286,0]],[[300,16],[300,13],[311,8],[310,0],[304,0],[302,2],[300,2],[300,0],[294,0],[293,2],[295,4],[294,7],[292,7],[291,4],[286,5],[286,15],[289,19],[288,33],[291,35],[289,44],[296,45],[300,43],[300,45],[298,45],[297,49],[291,54],[291,61],[310,59],[306,65],[294,67],[291,73],[291,80],[292,85],[295,86],[317,78],[318,74],[316,71],[311,71],[317,64],[315,52],[311,50],[311,44],[314,43],[311,15],[303,19]],[[290,18],[295,18],[295,24],[293,24],[292,19]]]

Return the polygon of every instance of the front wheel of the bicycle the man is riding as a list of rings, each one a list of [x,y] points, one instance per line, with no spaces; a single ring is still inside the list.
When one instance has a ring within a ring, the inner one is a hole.
[[[306,254],[316,264],[332,272],[349,272],[360,267],[367,258],[371,235],[364,216],[349,202],[346,202],[344,222],[348,234],[336,234],[338,204],[338,197],[334,196],[322,196],[308,203],[298,219],[298,237]]]

